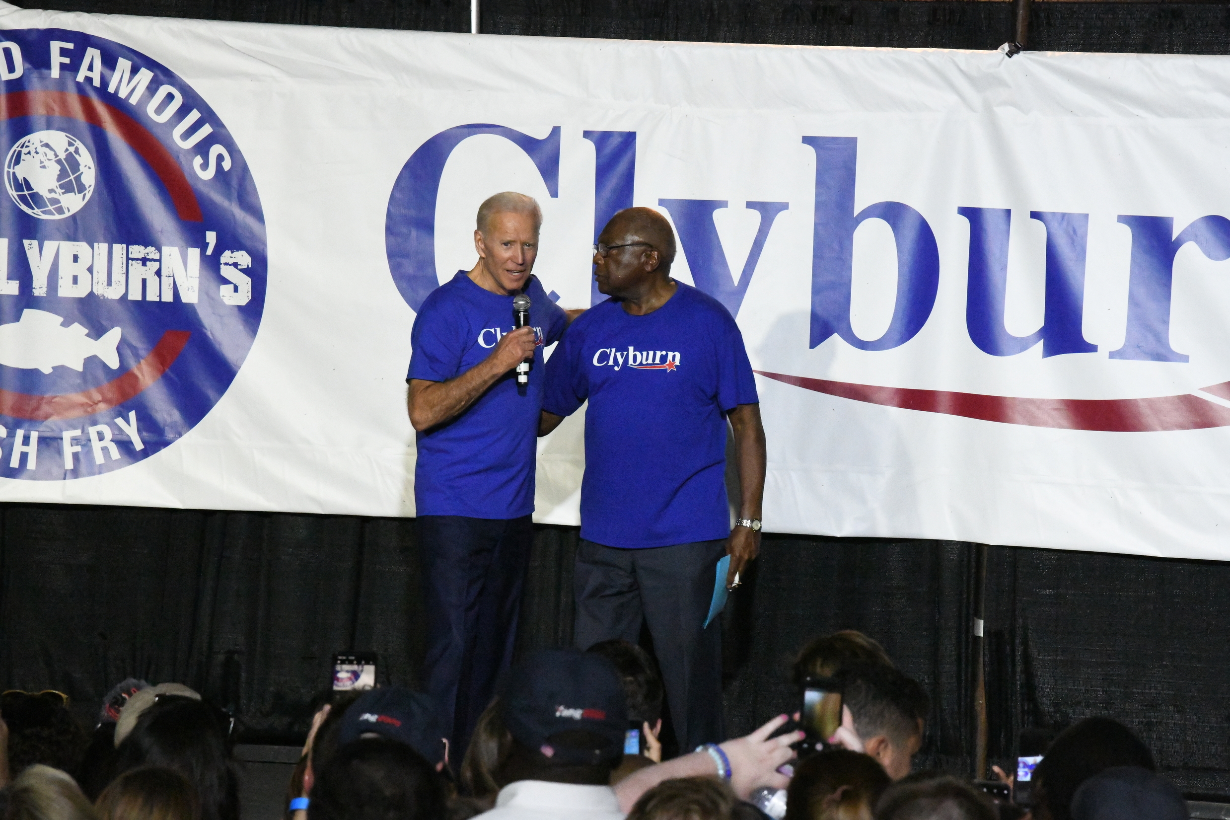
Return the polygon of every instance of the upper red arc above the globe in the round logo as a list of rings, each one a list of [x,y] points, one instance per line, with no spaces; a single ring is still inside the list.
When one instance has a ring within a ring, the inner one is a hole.
[[[148,128],[114,106],[68,91],[14,91],[0,95],[0,120],[32,116],[80,119],[118,136],[154,168],[171,195],[180,219],[188,223],[204,219],[197,194],[171,152]]]

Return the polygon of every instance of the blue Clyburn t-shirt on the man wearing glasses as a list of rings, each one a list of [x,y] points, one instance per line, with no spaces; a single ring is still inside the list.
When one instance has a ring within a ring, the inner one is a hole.
[[[632,316],[590,307],[547,364],[542,408],[585,411],[581,537],[608,547],[665,547],[731,534],[726,413],[755,404],[743,334],[716,299],[676,283]]]

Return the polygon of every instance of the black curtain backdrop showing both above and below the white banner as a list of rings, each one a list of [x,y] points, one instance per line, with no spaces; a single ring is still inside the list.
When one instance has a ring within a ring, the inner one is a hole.
[[[469,31],[465,0],[43,0],[68,11]],[[487,33],[993,49],[1007,2],[483,0]],[[1230,52],[1230,5],[1036,2],[1031,45]],[[567,645],[577,532],[539,527],[519,649]],[[769,535],[723,616],[728,729],[790,709],[790,659],[856,628],[930,691],[920,762],[972,771],[970,578],[958,542]],[[991,547],[990,756],[1022,727],[1108,714],[1188,792],[1230,794],[1230,564]],[[66,691],[92,719],[122,677],[183,681],[250,741],[296,743],[341,649],[380,653],[383,682],[421,677],[415,521],[137,508],[0,505],[0,679]]]

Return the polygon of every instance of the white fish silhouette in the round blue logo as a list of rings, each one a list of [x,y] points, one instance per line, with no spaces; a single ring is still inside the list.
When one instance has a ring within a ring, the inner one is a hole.
[[[81,370],[85,359],[96,355],[112,370],[119,366],[116,348],[121,328],[113,327],[95,341],[76,322],[62,327],[63,321],[55,313],[27,307],[18,321],[0,325],[0,364],[26,370],[37,368],[43,373],[50,373],[55,365]]]

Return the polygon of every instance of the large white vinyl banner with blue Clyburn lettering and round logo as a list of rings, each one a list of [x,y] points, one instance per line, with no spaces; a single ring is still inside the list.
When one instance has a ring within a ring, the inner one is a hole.
[[[1230,558],[1228,58],[0,30],[0,500],[413,515],[415,311],[512,189],[565,307],[672,221],[768,530]]]

